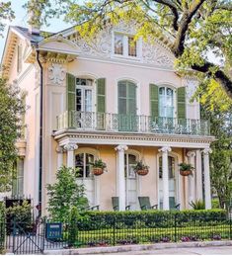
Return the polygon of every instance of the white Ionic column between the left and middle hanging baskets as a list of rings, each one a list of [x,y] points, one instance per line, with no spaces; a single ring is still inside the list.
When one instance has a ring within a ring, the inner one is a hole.
[[[125,211],[125,179],[124,179],[124,151],[128,149],[126,145],[116,146],[116,187],[119,201],[119,211]]]

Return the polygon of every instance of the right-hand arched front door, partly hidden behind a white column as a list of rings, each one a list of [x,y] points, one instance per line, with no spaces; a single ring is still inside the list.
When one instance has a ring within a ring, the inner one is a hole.
[[[168,156],[168,169],[169,169],[169,204],[170,209],[177,205],[177,180],[175,172],[175,158]],[[162,172],[162,157],[159,157],[159,197],[160,209],[163,209],[163,172]]]

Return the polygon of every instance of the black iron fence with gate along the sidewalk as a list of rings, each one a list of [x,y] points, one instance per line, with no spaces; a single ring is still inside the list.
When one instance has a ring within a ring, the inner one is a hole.
[[[0,223],[0,243],[15,254],[36,254],[68,247],[115,246],[232,239],[232,221],[224,212],[88,213],[75,223],[38,221]]]

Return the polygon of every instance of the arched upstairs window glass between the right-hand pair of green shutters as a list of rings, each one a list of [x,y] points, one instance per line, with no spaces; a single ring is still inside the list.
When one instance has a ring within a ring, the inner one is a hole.
[[[159,88],[159,117],[174,117],[174,91],[169,87]]]

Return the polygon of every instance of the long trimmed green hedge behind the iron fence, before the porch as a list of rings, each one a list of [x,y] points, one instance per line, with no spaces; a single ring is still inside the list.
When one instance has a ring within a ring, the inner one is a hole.
[[[226,224],[229,219],[224,210],[200,211],[142,211],[142,212],[83,212],[78,219],[79,230],[139,227],[185,227],[193,225]]]

